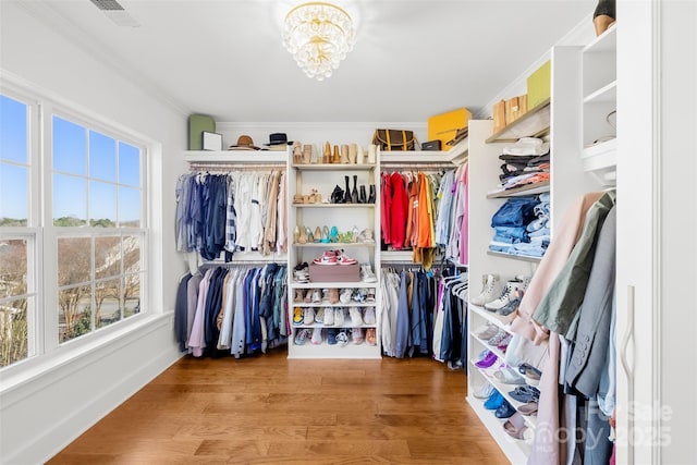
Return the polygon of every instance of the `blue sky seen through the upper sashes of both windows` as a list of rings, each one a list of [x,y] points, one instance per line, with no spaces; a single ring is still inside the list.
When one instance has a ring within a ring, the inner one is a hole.
[[[0,163],[0,218],[28,215],[27,111],[25,103],[0,96],[0,159],[10,161]],[[140,150],[57,115],[51,122],[53,219],[137,224]]]

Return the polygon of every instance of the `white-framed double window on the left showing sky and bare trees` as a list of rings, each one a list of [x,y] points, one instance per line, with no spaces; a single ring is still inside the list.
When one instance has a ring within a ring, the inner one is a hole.
[[[143,142],[48,99],[0,98],[1,368],[142,311],[147,198]]]

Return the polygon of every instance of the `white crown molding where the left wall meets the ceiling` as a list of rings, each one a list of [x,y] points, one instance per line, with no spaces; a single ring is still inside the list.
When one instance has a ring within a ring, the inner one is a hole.
[[[87,36],[78,24],[71,22],[62,13],[42,1],[15,2],[27,14],[53,29],[76,48],[89,54],[95,61],[113,71],[117,75],[129,81],[170,108],[175,113],[187,117],[189,111],[172,95],[162,91],[161,87],[149,81],[145,75],[123,59],[115,56],[102,41]],[[109,59],[105,59],[109,57]]]

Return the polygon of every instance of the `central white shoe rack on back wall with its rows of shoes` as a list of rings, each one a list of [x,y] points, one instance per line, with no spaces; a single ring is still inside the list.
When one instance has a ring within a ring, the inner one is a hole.
[[[321,156],[296,149],[289,166],[289,358],[380,358],[378,164],[375,154],[355,147],[351,155],[347,147],[325,149]],[[357,277],[346,281],[342,264],[314,264],[329,250],[355,259]],[[316,279],[297,279],[302,264],[313,266]],[[371,279],[363,280],[362,266],[370,267]],[[334,321],[316,321],[321,313]],[[321,339],[313,338],[317,331]]]

